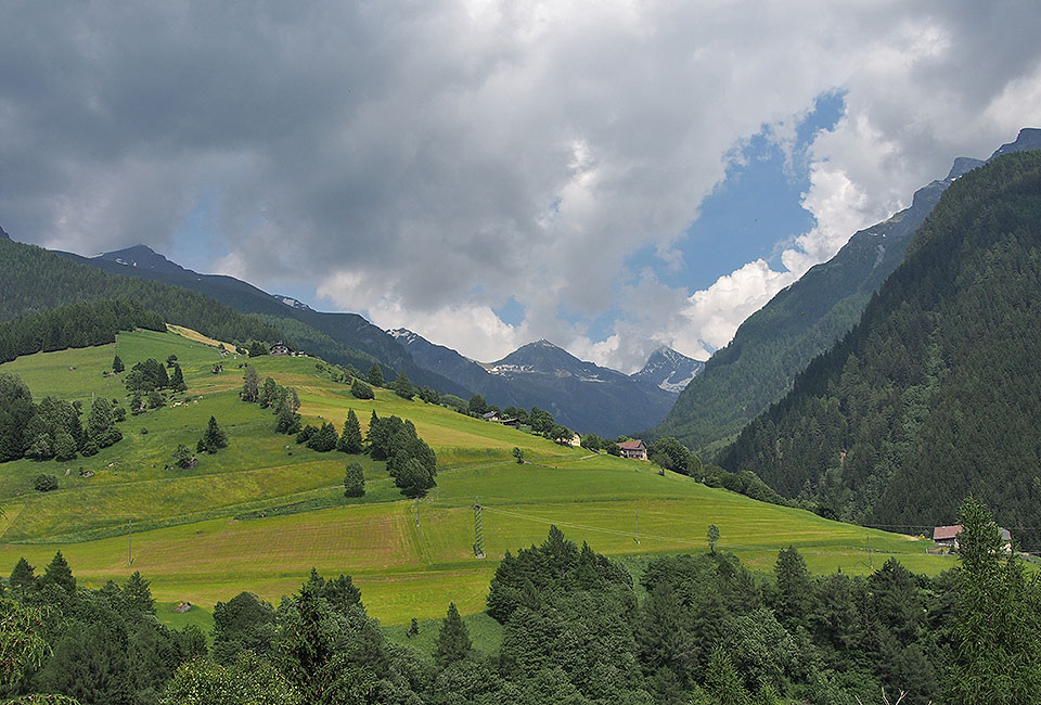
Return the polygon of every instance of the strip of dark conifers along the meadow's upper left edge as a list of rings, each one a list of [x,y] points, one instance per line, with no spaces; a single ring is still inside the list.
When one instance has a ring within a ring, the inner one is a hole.
[[[62,306],[0,324],[0,362],[22,355],[89,347],[116,342],[119,331],[165,331],[163,317],[128,300]]]

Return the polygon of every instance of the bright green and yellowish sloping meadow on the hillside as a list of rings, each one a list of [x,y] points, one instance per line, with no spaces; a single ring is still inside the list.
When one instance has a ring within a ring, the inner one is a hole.
[[[248,360],[261,381],[272,376],[298,390],[305,422],[342,427],[348,409],[363,430],[372,411],[411,420],[437,452],[438,486],[409,501],[384,463],[318,453],[275,434],[269,410],[239,400],[246,360],[220,358],[207,343],[191,332],[136,332],[113,345],[0,366],[38,399],[51,395],[85,406],[97,395],[125,403],[120,377],[104,374],[114,355],[128,369],[177,355],[189,385],[172,405],[129,416],[120,424],[124,440],[93,458],[0,465],[0,572],[21,555],[42,568],[61,549],[81,584],[100,587],[140,571],[165,620],[205,625],[205,612],[180,615],[174,605],[210,608],[242,590],[277,602],[314,566],[350,574],[370,614],[402,638],[411,618],[427,624],[454,601],[491,643],[498,632],[479,613],[497,562],[506,551],[541,542],[551,524],[637,568],[648,555],[706,550],[709,524],[719,526],[719,548],[760,571],[771,569],[777,550],[789,544],[819,573],[868,573],[889,556],[930,574],[952,565],[948,556],[926,554],[928,540],[763,504],[386,389],[358,400],[314,358]],[[223,372],[211,372],[216,362]],[[386,372],[393,379],[394,371]],[[210,415],[228,433],[229,447],[201,456],[192,470],[168,470],[177,445],[194,447]],[[528,463],[513,461],[514,447],[524,449]],[[349,500],[343,497],[344,466],[354,460],[364,466],[367,495]],[[41,473],[57,476],[59,489],[33,489]],[[483,508],[484,560],[473,551],[475,502]]]

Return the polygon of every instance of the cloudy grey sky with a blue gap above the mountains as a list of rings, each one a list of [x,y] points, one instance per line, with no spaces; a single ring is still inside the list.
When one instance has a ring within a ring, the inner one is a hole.
[[[1041,125],[1033,2],[0,4],[0,226],[496,360],[705,359]]]

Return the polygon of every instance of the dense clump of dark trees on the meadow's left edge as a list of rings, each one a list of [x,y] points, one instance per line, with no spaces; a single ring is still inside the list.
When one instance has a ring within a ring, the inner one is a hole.
[[[34,458],[67,461],[93,456],[123,439],[116,422],[126,409],[97,398],[80,421],[82,405],[44,397],[39,405],[21,377],[0,373],[0,462]]]

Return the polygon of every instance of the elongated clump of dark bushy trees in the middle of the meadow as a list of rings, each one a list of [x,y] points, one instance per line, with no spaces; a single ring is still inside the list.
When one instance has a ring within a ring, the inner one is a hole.
[[[365,435],[373,460],[387,461],[387,472],[408,497],[423,497],[437,482],[437,456],[415,433],[411,421],[383,419],[372,412]]]

